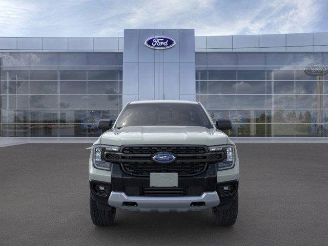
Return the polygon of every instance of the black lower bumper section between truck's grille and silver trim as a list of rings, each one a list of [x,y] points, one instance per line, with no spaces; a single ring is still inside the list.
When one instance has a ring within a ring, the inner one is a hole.
[[[229,206],[237,196],[238,180],[217,183],[215,163],[209,164],[206,172],[190,177],[179,177],[178,188],[151,188],[149,177],[138,177],[122,172],[119,164],[113,163],[112,183],[91,180],[91,196],[101,204],[108,205],[111,191],[125,192],[128,196],[199,196],[203,192],[217,191],[220,198],[219,207]],[[106,192],[99,192],[97,185],[105,186]],[[222,191],[222,186],[232,185],[230,193]]]

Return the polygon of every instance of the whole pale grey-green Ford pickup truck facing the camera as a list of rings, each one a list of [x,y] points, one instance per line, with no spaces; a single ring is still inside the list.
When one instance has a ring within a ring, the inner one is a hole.
[[[187,212],[212,209],[218,226],[238,214],[239,161],[235,144],[191,101],[134,101],[105,131],[89,159],[90,213],[97,226],[113,224],[116,209]]]

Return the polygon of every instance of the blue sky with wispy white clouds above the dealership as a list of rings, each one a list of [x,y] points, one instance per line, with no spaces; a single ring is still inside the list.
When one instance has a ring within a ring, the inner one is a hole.
[[[328,31],[328,1],[0,0],[0,36],[122,37],[125,28],[196,36]]]

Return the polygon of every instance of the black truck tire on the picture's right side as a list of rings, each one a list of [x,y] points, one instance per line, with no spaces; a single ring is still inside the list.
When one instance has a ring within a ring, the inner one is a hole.
[[[220,209],[219,206],[212,208],[214,223],[217,226],[230,227],[236,222],[238,215],[238,194],[231,202],[231,207],[227,210]]]

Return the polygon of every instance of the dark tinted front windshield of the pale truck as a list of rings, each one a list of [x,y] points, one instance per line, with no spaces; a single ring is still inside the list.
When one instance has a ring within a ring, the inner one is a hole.
[[[213,128],[199,104],[130,104],[116,122],[116,128],[131,126],[197,126]]]

